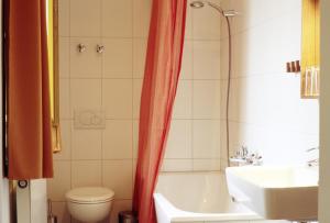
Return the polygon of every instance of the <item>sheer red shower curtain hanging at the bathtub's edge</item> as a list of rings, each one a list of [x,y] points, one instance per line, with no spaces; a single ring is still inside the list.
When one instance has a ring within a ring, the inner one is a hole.
[[[154,0],[141,96],[133,209],[154,223],[155,189],[182,65],[187,0]]]

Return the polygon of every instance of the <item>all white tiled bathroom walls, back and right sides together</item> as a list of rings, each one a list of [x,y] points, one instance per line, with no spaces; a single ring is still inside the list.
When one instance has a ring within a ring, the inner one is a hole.
[[[285,63],[300,56],[300,0],[221,4],[240,12],[231,19],[231,150],[246,145],[258,150],[265,164],[305,161],[305,150],[318,145],[318,101],[301,100],[299,76],[285,73]],[[63,152],[54,156],[55,178],[48,181],[59,222],[70,222],[64,194],[75,187],[112,188],[113,221],[119,210],[131,208],[150,8],[151,0],[59,0]],[[224,167],[223,21],[211,8],[188,8],[163,171]],[[79,43],[87,47],[84,53],[77,51]],[[97,44],[105,45],[102,54],[96,53]],[[75,113],[85,111],[98,118],[105,113],[106,127],[77,129]]]

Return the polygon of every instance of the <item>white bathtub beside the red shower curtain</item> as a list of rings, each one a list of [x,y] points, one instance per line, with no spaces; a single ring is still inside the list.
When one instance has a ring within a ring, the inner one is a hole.
[[[154,200],[158,223],[263,222],[254,212],[231,201],[221,172],[161,174]]]

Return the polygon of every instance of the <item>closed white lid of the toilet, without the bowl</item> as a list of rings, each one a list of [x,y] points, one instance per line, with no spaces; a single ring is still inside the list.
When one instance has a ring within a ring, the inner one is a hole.
[[[76,188],[66,193],[66,199],[74,202],[100,202],[112,200],[114,192],[108,188],[86,187]]]

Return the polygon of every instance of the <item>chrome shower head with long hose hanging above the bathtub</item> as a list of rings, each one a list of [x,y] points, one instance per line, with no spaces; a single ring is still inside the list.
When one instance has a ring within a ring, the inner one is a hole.
[[[227,142],[226,142],[226,146],[227,146],[227,164],[228,166],[230,166],[230,149],[229,149],[229,107],[230,107],[230,88],[231,88],[231,75],[232,75],[232,36],[231,36],[231,26],[230,26],[230,18],[233,18],[235,15],[238,15],[238,12],[235,10],[223,10],[220,5],[212,3],[210,1],[207,0],[201,0],[201,1],[193,1],[190,3],[190,7],[193,9],[201,9],[205,5],[209,5],[213,9],[216,9],[220,14],[222,14],[226,19],[227,22],[227,27],[228,27],[228,43],[229,43],[229,47],[228,47],[228,81],[227,81],[227,98],[226,98],[226,132],[227,132]]]

